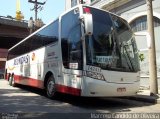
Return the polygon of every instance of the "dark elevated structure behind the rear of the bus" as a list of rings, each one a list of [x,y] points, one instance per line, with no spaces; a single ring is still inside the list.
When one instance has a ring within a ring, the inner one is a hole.
[[[0,16],[0,78],[5,70],[8,49],[29,35],[28,23]]]

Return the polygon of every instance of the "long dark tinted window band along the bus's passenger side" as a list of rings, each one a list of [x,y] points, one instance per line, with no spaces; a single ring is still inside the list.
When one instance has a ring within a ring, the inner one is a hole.
[[[50,43],[58,41],[58,20],[51,23],[32,37],[28,38],[11,51],[9,51],[8,59],[15,58],[19,55],[36,50]]]

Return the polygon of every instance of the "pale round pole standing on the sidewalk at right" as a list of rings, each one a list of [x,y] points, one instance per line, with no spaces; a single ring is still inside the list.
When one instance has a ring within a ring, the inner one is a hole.
[[[158,94],[158,83],[157,83],[157,64],[156,64],[152,0],[146,0],[146,3],[147,3],[148,33],[151,40],[150,41],[151,44],[149,47],[150,95],[155,96],[156,94]]]

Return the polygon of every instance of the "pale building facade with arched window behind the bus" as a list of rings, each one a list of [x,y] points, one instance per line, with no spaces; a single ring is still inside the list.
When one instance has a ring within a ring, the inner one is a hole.
[[[66,0],[69,1],[69,0]],[[157,74],[160,77],[160,0],[153,0],[154,30],[157,55]],[[110,11],[126,19],[135,33],[138,49],[144,54],[140,62],[141,77],[149,76],[147,45],[147,5],[146,0],[92,0],[90,5]]]

